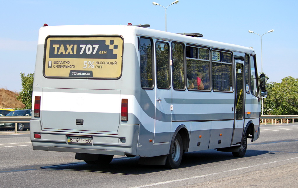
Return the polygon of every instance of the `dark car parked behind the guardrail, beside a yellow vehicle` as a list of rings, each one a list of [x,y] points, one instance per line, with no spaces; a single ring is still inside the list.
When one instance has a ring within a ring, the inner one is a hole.
[[[14,110],[8,113],[5,116],[31,116],[31,109],[28,110]],[[26,128],[29,129],[29,123],[18,123],[18,130],[26,130]],[[15,128],[14,123],[4,123],[4,125],[0,125],[0,128]]]

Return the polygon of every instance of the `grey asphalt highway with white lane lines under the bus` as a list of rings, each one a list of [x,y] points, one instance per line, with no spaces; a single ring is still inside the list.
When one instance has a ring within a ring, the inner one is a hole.
[[[0,132],[0,187],[297,187],[298,124],[261,125],[246,155],[185,153],[178,169],[114,156],[108,165],[75,160],[74,153],[32,150],[29,132]],[[23,134],[22,134],[23,133]]]

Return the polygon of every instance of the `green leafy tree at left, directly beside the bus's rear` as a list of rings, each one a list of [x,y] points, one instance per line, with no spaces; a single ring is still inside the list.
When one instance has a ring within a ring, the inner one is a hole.
[[[21,73],[21,82],[22,82],[22,90],[17,96],[17,100],[21,101],[26,107],[25,109],[32,108],[32,88],[33,88],[33,77],[34,74],[30,73],[25,75],[25,73]]]

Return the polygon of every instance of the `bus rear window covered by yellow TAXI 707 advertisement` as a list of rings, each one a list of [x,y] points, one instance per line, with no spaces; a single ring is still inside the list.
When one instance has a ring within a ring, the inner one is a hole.
[[[106,78],[121,76],[123,39],[119,36],[57,36],[46,39],[46,77]]]

